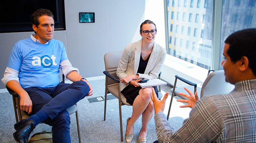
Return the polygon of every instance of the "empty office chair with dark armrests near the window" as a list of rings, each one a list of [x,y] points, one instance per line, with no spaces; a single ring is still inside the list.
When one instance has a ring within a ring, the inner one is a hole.
[[[196,83],[192,83],[186,79],[179,77],[178,75],[175,75],[174,86],[173,86],[173,89],[171,89],[172,97],[171,97],[171,103],[169,106],[169,111],[167,114],[167,120],[169,119],[174,94],[182,99],[188,100],[187,97],[184,97],[178,94],[178,93],[187,94],[187,91],[184,89],[184,87],[176,88],[177,79],[191,85],[191,86],[187,86],[186,88],[189,89],[190,91],[194,90],[194,94],[196,91],[198,91],[197,95],[199,99],[207,95],[227,94],[234,89],[234,85],[225,81],[224,70],[217,70],[212,73],[210,73],[210,71],[214,71],[214,70],[208,71],[208,76],[206,77],[204,83],[202,84],[202,87],[198,87]]]

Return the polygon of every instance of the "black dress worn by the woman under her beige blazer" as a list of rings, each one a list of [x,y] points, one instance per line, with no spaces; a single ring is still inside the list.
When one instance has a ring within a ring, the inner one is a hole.
[[[150,55],[148,56],[148,58],[146,60],[143,60],[143,58],[140,54],[140,63],[139,63],[137,73],[144,74]],[[153,88],[155,89],[155,92],[157,94],[157,92],[158,92],[157,86],[154,86]],[[133,105],[133,102],[134,102],[135,98],[139,95],[140,89],[142,89],[142,88],[141,87],[135,87],[133,85],[127,85],[127,87],[125,87],[121,92],[126,97],[126,102]],[[158,94],[157,94],[157,97],[158,97]]]

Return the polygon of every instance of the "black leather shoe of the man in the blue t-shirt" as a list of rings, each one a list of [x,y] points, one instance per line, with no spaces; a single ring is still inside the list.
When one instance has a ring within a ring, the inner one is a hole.
[[[35,122],[33,120],[23,119],[19,123],[14,125],[16,132],[13,133],[13,137],[17,143],[27,143],[30,133],[35,128]]]

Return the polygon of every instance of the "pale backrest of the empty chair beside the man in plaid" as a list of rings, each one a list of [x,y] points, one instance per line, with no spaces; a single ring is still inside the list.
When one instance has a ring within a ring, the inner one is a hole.
[[[227,94],[234,89],[234,85],[225,81],[224,70],[210,73],[201,89],[201,97],[212,94]]]

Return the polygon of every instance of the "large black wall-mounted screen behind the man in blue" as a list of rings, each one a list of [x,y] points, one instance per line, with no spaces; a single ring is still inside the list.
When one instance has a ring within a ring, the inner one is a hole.
[[[54,30],[66,30],[64,0],[0,0],[0,33],[34,31],[30,17],[39,8],[54,15]]]

